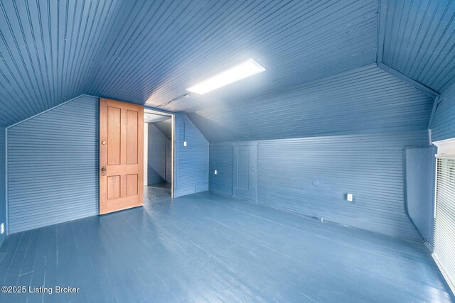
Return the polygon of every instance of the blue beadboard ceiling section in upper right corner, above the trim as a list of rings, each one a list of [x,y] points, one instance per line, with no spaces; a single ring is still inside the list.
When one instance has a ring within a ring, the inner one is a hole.
[[[455,1],[381,0],[382,62],[442,93],[455,82]]]

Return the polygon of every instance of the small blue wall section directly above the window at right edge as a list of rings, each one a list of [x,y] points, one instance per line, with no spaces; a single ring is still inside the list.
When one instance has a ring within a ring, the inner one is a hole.
[[[455,84],[439,97],[432,122],[432,141],[455,138]]]

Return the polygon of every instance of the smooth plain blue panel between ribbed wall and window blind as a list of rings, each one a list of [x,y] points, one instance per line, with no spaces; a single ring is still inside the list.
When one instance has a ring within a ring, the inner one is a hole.
[[[406,202],[407,213],[424,241],[433,243],[434,178],[436,146],[407,148]]]

